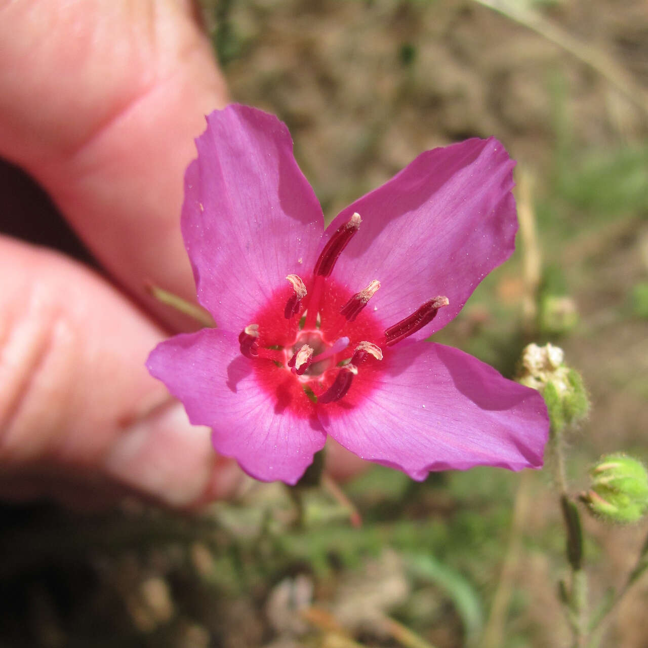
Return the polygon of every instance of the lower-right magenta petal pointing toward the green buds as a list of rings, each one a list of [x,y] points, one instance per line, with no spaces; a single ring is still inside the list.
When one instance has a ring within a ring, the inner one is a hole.
[[[430,470],[542,465],[549,422],[534,389],[463,351],[428,342],[386,354],[382,371],[369,362],[355,380],[374,380],[373,392],[354,402],[352,384],[340,402],[318,409],[327,432],[351,452],[415,480]]]

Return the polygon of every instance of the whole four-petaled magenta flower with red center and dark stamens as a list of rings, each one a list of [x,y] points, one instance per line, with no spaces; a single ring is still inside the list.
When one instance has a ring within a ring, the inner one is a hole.
[[[498,141],[421,154],[326,230],[272,115],[215,111],[196,145],[182,232],[218,328],[162,342],[148,369],[218,452],[291,484],[327,434],[415,480],[542,465],[540,394],[424,341],[513,251],[514,163]]]

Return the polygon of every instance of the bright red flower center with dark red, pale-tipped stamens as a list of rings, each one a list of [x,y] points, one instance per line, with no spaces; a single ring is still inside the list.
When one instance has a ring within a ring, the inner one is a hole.
[[[386,349],[424,327],[448,303],[446,297],[430,299],[384,329],[373,309],[365,308],[379,281],[352,294],[330,278],[359,227],[360,216],[353,214],[329,238],[308,282],[287,275],[289,285],[275,291],[238,337],[241,353],[257,360],[254,371],[260,386],[275,399],[277,413],[287,408],[312,416],[315,402],[344,399],[353,406],[364,399],[382,373]]]

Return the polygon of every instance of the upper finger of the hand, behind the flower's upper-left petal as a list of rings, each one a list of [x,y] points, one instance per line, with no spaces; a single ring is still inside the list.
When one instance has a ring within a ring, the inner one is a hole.
[[[141,299],[147,280],[194,295],[179,234],[183,172],[203,115],[226,102],[189,5],[2,8],[0,154],[29,170]]]

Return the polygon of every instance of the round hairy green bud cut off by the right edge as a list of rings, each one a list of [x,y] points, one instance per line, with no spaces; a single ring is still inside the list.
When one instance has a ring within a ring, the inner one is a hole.
[[[592,486],[581,499],[595,515],[618,524],[638,522],[648,509],[648,472],[622,453],[601,457],[590,470]]]

